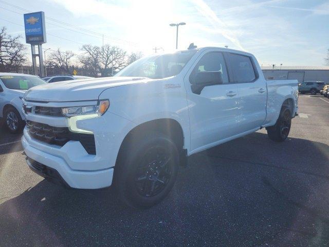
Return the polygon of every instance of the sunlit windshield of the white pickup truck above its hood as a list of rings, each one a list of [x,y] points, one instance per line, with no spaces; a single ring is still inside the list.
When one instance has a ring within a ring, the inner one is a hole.
[[[175,76],[196,52],[197,50],[186,50],[141,58],[120,70],[115,76],[138,76],[151,79]]]

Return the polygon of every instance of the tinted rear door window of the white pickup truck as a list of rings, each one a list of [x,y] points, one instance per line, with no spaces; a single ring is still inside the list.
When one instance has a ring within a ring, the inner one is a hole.
[[[257,79],[250,57],[238,54],[229,54],[229,57],[234,75],[232,82],[252,82]]]

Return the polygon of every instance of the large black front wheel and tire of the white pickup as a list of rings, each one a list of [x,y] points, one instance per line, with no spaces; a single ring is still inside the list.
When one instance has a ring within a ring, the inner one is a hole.
[[[177,178],[179,152],[168,136],[159,132],[135,133],[120,152],[115,186],[129,206],[148,208],[162,201]]]

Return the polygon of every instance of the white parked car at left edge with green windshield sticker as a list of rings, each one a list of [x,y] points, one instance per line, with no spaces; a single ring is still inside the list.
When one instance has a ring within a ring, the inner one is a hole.
[[[22,98],[27,90],[36,85],[47,84],[38,76],[16,73],[0,73],[0,118],[11,133],[17,133],[25,125],[21,113]]]

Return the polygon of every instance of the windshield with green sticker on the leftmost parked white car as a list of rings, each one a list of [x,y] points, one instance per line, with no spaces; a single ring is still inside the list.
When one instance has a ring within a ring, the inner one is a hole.
[[[33,86],[46,84],[44,80],[36,76],[0,76],[7,89],[29,90]]]

